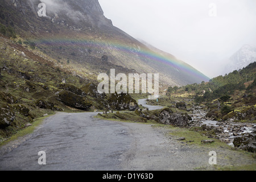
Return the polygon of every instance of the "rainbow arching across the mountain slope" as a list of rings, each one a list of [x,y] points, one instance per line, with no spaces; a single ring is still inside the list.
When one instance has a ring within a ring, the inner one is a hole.
[[[152,61],[154,64],[166,65],[168,67],[175,68],[179,72],[183,72],[188,76],[196,77],[197,80],[201,81],[209,81],[210,78],[205,76],[203,73],[197,71],[195,68],[191,67],[184,63],[183,61],[179,61],[176,59],[171,59],[170,57],[162,56],[159,53],[151,51],[146,48],[134,48],[134,46],[130,46],[127,43],[122,43],[118,40],[102,40],[101,38],[96,39],[83,39],[83,38],[63,38],[59,36],[55,36],[52,38],[44,38],[44,39],[30,39],[29,41],[34,42],[35,44],[44,44],[46,46],[73,46],[74,48],[98,48],[98,49],[106,49],[106,48],[114,48],[118,51],[134,55],[138,55],[139,57],[143,57],[144,59]]]

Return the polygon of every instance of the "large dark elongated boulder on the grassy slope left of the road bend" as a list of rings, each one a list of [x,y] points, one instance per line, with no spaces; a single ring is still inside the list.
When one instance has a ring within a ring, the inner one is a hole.
[[[75,107],[76,109],[80,110],[87,110],[90,106],[92,106],[92,103],[86,100],[85,97],[76,95],[67,90],[61,91],[57,95],[57,100],[63,102],[67,106]]]

